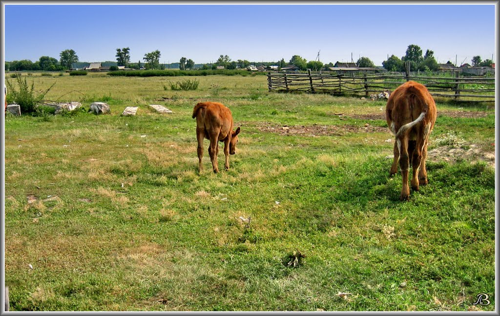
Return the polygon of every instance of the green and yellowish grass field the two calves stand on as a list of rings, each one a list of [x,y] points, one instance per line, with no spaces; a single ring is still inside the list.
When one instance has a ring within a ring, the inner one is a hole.
[[[495,310],[491,107],[437,103],[429,184],[402,203],[385,102],[269,93],[265,76],[170,90],[181,79],[28,77],[111,114],[5,118],[12,311]],[[241,127],[219,174],[206,140],[197,171],[208,100]]]

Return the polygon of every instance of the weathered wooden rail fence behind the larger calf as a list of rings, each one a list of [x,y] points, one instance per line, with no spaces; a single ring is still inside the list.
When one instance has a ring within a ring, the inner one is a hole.
[[[368,96],[384,90],[393,91],[405,81],[424,84],[432,96],[454,98],[456,101],[494,102],[494,77],[410,76],[401,74],[303,74],[267,73],[269,91],[304,91],[309,93],[354,94]]]

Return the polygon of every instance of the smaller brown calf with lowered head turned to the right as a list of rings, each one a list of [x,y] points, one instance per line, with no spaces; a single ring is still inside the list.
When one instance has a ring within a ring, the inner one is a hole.
[[[203,138],[210,140],[208,154],[212,161],[213,172],[218,172],[218,143],[224,142],[226,170],[229,169],[229,154],[234,155],[238,142],[239,127],[232,130],[231,111],[217,102],[200,102],[192,110],[192,118],[196,118],[196,138],[198,140],[198,167],[201,172],[203,158]]]

